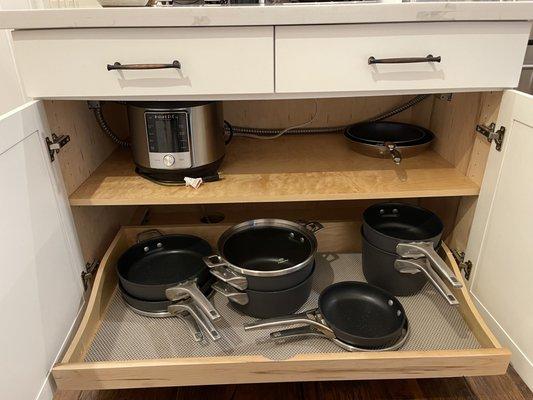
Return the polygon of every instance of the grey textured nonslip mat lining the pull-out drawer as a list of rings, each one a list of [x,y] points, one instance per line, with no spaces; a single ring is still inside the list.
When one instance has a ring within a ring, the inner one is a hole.
[[[318,253],[313,289],[302,310],[317,306],[321,290],[333,282],[364,281],[361,254]],[[410,335],[399,351],[480,348],[456,307],[449,306],[429,283],[415,296],[398,297],[410,324]],[[305,353],[344,350],[329,340],[306,338],[285,343],[265,340],[271,330],[245,332],[243,323],[254,321],[228,305],[215,293],[213,303],[222,315],[217,321],[222,339],[196,343],[184,323],[175,317],[149,318],[129,309],[115,291],[85,361],[120,361],[157,358],[262,355],[285,359]]]

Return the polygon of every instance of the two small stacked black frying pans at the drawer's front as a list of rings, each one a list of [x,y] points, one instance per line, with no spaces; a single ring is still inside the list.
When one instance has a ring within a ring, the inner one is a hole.
[[[304,324],[322,336],[358,349],[383,348],[406,336],[407,317],[393,295],[364,282],[339,282],[328,286],[318,298],[318,308],[300,314],[269,318],[246,324],[245,330]],[[308,336],[300,328],[274,332],[274,339]],[[339,343],[337,343],[339,344]],[[344,346],[343,346],[344,347]]]

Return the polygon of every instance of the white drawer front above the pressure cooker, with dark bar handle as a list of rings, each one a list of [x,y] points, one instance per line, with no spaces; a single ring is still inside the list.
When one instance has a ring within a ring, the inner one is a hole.
[[[13,32],[31,97],[272,93],[272,27],[114,28]],[[107,70],[108,64],[181,68]]]

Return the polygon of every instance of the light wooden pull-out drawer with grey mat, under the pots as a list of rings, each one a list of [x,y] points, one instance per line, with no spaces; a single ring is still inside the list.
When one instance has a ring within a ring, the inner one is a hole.
[[[214,244],[229,226],[157,229],[197,234]],[[317,233],[320,253],[307,306],[316,302],[320,291],[317,285],[363,279],[359,254],[336,253],[340,250],[338,243],[346,243],[339,238],[353,235],[356,242],[358,224],[329,222],[324,226]],[[104,256],[78,332],[53,369],[59,388],[450,377],[502,374],[507,369],[509,352],[490,333],[466,289],[453,289],[460,305],[451,307],[430,285],[416,296],[400,297],[411,333],[399,351],[349,353],[325,339],[258,344],[257,340],[267,333],[245,333],[242,322],[252,319],[231,310],[226,300],[217,295],[213,302],[224,319],[217,323],[224,339],[207,346],[194,344],[178,319],[138,316],[125,306],[116,291],[115,263],[135,243],[136,235],[146,229],[122,228]],[[445,246],[443,254],[460,276]],[[254,334],[257,336],[246,337]]]

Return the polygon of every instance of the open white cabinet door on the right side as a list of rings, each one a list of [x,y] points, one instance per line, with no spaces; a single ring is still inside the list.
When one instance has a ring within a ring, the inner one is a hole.
[[[511,362],[533,388],[533,96],[506,91],[466,250],[470,290]]]

